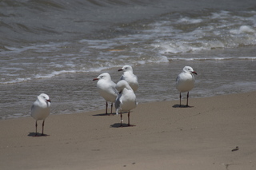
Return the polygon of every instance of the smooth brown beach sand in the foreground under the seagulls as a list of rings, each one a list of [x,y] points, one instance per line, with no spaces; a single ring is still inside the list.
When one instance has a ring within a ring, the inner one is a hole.
[[[0,167],[256,169],[255,97],[256,92],[191,98],[191,108],[177,108],[178,101],[139,104],[130,117],[135,126],[123,128],[119,116],[102,116],[104,110],[50,115],[49,136],[39,137],[33,137],[32,117],[0,121]]]

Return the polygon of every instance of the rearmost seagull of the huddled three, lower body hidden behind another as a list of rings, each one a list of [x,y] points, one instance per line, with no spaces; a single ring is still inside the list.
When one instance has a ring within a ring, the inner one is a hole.
[[[122,69],[118,69],[118,71],[123,71],[120,80],[127,81],[134,92],[136,92],[138,89],[138,77],[134,75],[133,68],[130,65],[124,65]]]

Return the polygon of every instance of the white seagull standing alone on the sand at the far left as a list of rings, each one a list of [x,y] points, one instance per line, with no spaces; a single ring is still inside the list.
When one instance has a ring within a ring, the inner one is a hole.
[[[47,94],[42,93],[31,107],[31,117],[35,119],[35,136],[38,136],[38,121],[42,121],[42,136],[46,117],[50,115],[50,98]]]

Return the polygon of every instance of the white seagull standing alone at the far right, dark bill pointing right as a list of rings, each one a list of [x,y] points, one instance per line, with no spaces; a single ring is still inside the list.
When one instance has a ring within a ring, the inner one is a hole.
[[[182,92],[187,92],[186,95],[186,107],[189,107],[189,91],[194,88],[194,69],[190,66],[185,66],[182,70],[182,73],[178,74],[176,78],[176,89],[179,93],[179,106],[182,106]]]

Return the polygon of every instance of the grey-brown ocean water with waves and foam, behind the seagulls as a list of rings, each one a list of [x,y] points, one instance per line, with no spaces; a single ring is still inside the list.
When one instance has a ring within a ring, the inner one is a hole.
[[[198,73],[190,97],[256,90],[252,0],[2,1],[0,18],[0,119],[29,116],[40,93],[53,114],[104,109],[92,79],[117,82],[122,65],[139,103],[178,100],[185,65]]]

